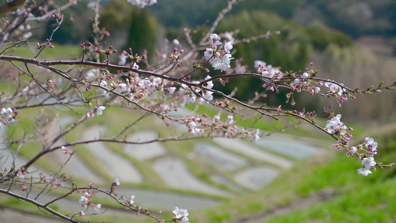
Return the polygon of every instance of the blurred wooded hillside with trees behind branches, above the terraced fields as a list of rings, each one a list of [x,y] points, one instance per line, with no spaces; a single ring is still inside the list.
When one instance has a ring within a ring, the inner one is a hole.
[[[91,38],[91,21],[87,16],[91,12],[86,3],[80,2],[77,7],[65,11],[66,15],[74,15],[73,19],[78,22],[66,19],[55,33],[55,41],[76,44]],[[227,1],[161,0],[143,9],[125,0],[103,0],[101,4],[100,25],[110,32],[107,44],[118,50],[129,47],[139,53],[147,50],[148,56],[155,58],[156,50],[164,48],[165,38],[170,43],[178,39],[182,44],[178,47],[188,50],[183,29],[200,27],[192,33],[193,40],[198,40],[227,6]],[[234,46],[234,58],[242,57],[242,65],[248,65],[248,70],[253,69],[254,60],[263,60],[280,67],[281,71],[305,70],[312,62],[314,69],[320,71],[318,77],[337,80],[351,88],[365,88],[381,81],[394,82],[395,1],[246,0],[225,16],[215,33],[234,31],[237,33],[234,38],[241,39],[283,27],[287,29],[279,35]],[[48,24],[36,35],[47,36],[52,29]],[[244,100],[252,98],[255,91],[263,90],[261,83],[251,77],[232,79],[230,83],[226,91],[230,92],[235,83],[239,83],[237,96]],[[285,103],[287,93],[270,94],[265,102],[290,108]],[[329,104],[326,98],[305,100],[304,97],[295,98],[296,107],[318,110]],[[387,122],[396,117],[394,107],[392,94],[373,94],[348,101],[348,108],[341,108],[339,112],[353,121],[369,117]]]

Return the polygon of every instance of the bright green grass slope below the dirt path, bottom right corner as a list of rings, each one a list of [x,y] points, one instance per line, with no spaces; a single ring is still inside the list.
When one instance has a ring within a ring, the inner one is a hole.
[[[362,182],[363,183],[363,182]],[[365,183],[335,200],[310,206],[286,216],[272,217],[278,222],[388,222],[396,219],[395,180]]]

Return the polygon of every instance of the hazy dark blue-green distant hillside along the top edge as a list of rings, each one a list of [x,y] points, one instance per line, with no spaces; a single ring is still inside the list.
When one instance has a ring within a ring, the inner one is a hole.
[[[213,21],[226,5],[225,0],[158,0],[150,11],[168,27],[194,27]],[[325,24],[355,38],[396,35],[394,0],[246,0],[230,13],[242,10],[271,11],[300,25]]]

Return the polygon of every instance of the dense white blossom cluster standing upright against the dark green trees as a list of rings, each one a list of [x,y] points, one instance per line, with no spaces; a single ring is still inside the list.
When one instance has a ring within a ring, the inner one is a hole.
[[[210,64],[215,70],[226,71],[230,68],[232,59],[230,50],[232,49],[231,42],[220,42],[220,37],[212,33],[210,39],[213,41],[212,48],[206,48],[204,53],[205,59],[210,60]]]

